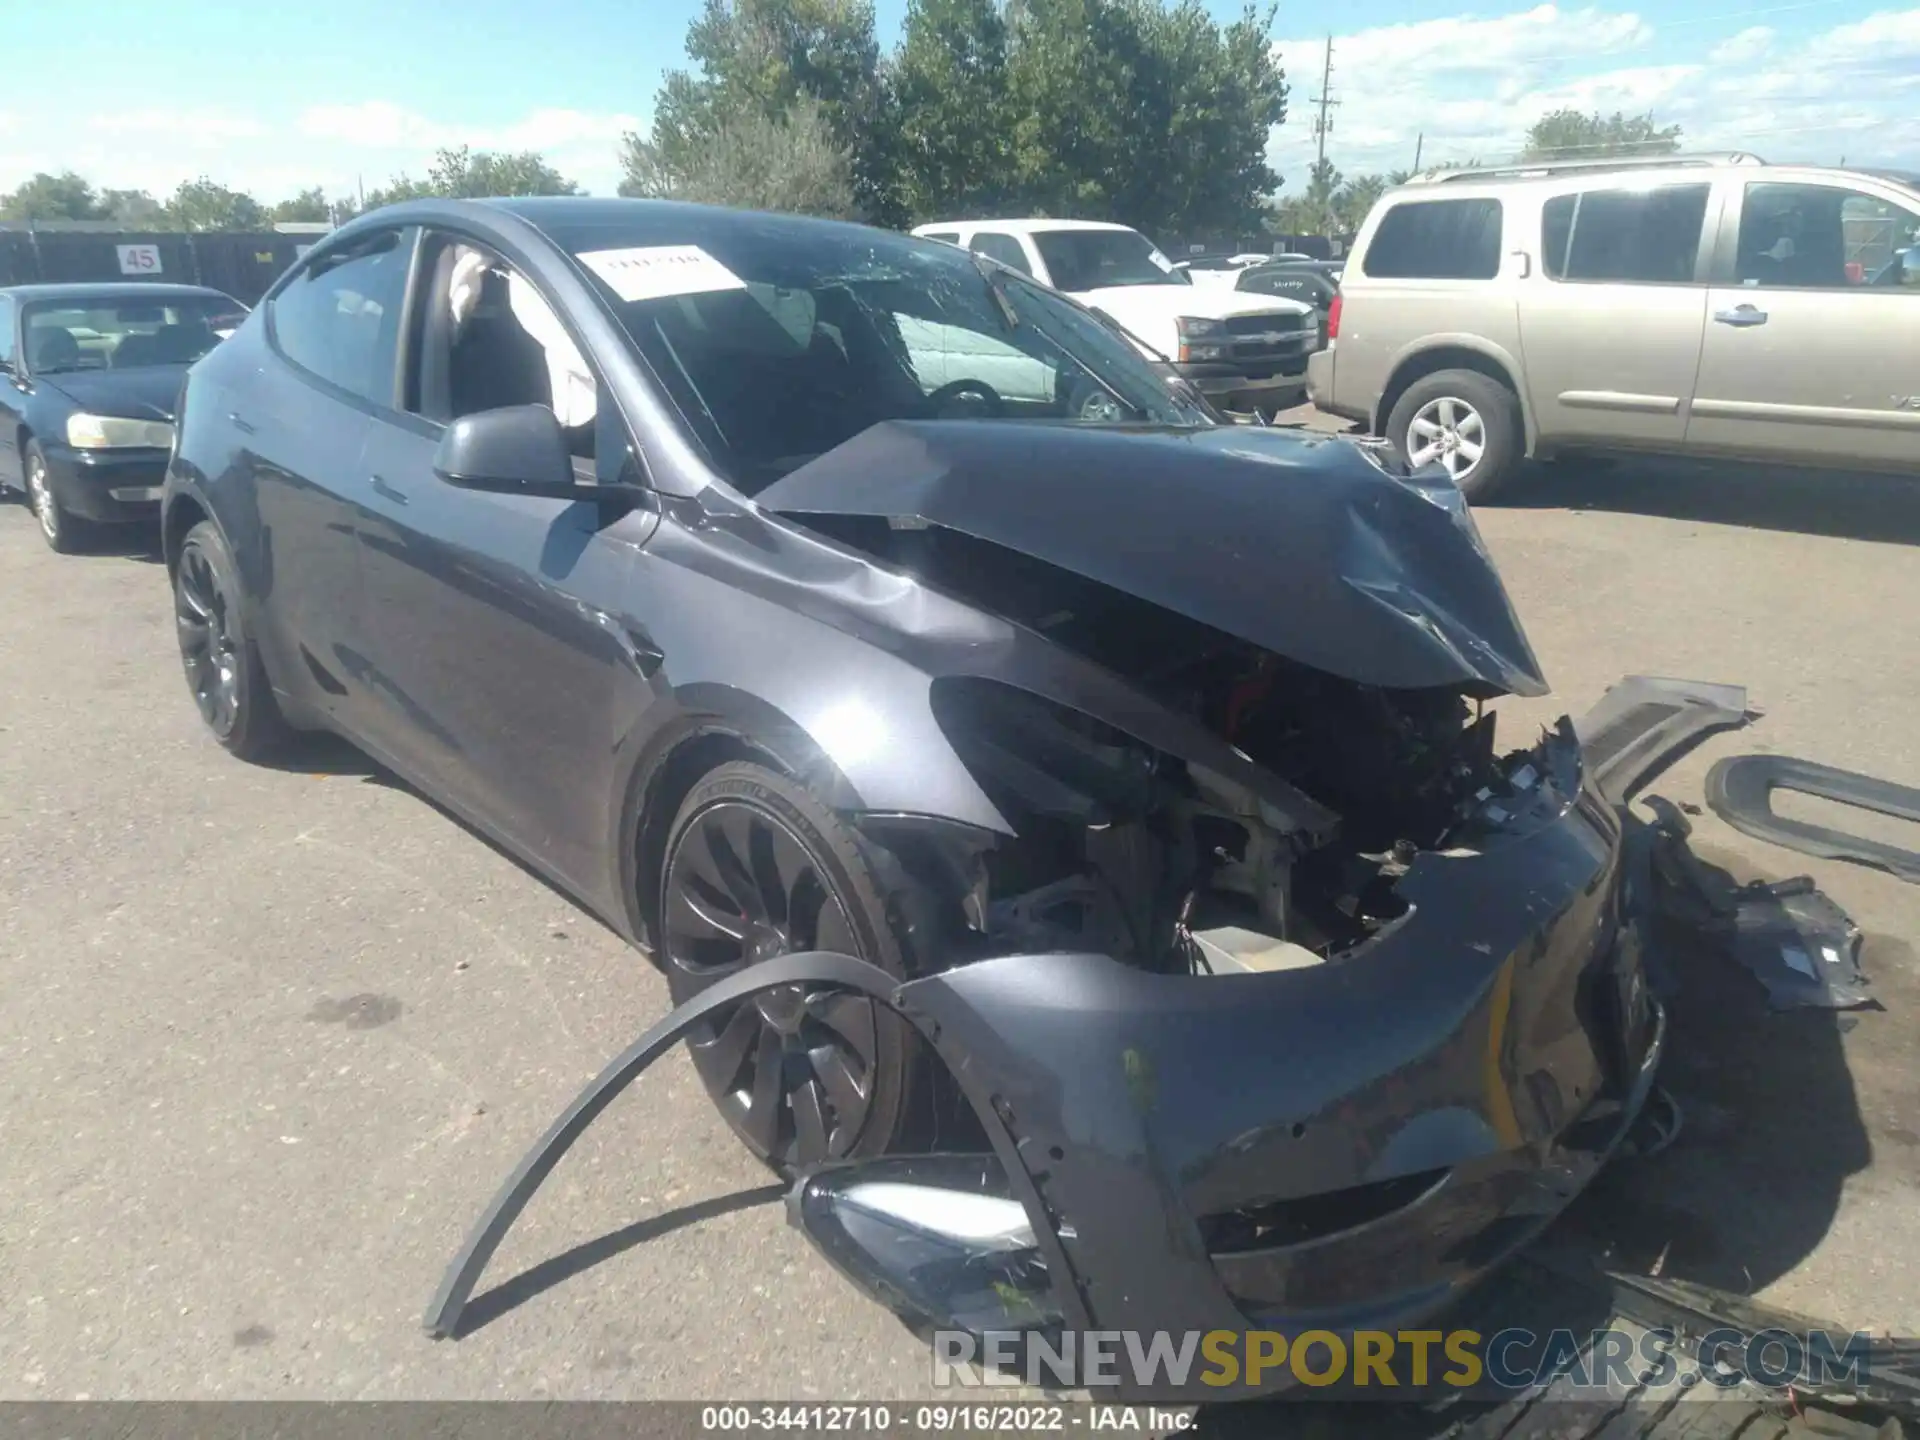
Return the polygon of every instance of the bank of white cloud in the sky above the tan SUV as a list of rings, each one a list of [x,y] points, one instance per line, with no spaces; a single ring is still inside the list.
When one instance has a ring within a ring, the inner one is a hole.
[[[1657,13],[1548,4],[1334,35],[1327,156],[1348,175],[1411,167],[1415,150],[1421,165],[1505,159],[1561,108],[1651,111],[1688,146],[1784,159],[1899,163],[1920,150],[1920,8],[1793,36]],[[1277,46],[1292,102],[1271,152],[1288,188],[1313,161],[1323,46]]]

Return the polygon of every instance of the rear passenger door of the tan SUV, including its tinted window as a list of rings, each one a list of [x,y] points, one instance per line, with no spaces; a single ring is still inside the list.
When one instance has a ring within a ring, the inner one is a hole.
[[[1707,317],[1711,180],[1613,177],[1548,196],[1519,286],[1544,442],[1678,449]]]

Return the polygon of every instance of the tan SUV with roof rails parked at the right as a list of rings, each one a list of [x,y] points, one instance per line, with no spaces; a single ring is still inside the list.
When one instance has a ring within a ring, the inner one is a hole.
[[[1469,499],[1571,449],[1920,470],[1920,177],[1423,177],[1359,227],[1308,396]]]

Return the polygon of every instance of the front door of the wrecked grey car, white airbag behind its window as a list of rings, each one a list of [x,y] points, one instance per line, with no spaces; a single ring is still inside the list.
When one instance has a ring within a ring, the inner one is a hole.
[[[557,877],[597,891],[618,745],[651,695],[647,641],[622,616],[659,516],[461,490],[434,474],[447,422],[553,405],[557,388],[582,480],[634,480],[637,463],[540,290],[451,236],[430,238],[426,253],[409,407],[372,424],[365,455],[361,572],[382,695],[369,741]],[[470,255],[501,284],[455,284]],[[472,301],[459,317],[457,292]],[[570,348],[559,371],[547,348]],[[561,372],[572,380],[557,386]]]

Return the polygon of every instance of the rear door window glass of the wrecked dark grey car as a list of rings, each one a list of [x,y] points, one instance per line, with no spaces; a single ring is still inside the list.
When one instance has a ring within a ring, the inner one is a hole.
[[[411,238],[382,230],[313,257],[269,301],[280,353],[351,396],[392,405]]]

